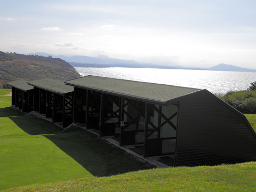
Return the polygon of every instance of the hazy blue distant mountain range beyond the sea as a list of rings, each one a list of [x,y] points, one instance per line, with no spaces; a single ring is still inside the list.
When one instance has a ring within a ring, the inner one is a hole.
[[[220,70],[220,71],[243,71],[256,72],[255,69],[246,69],[233,65],[219,64],[210,68],[182,67],[182,66],[159,66],[152,63],[143,63],[133,60],[122,60],[109,58],[107,55],[99,54],[97,57],[88,57],[82,55],[74,55],[67,57],[66,55],[53,55],[48,53],[36,52],[34,55],[42,55],[53,58],[60,58],[70,63],[73,67],[130,67],[130,68],[161,68],[161,69],[190,69],[190,70]]]

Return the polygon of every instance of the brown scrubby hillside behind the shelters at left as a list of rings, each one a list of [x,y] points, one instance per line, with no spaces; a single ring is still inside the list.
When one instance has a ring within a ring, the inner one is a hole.
[[[6,88],[6,82],[17,79],[30,81],[46,77],[66,81],[80,76],[73,66],[61,59],[0,51],[0,62],[12,61],[13,59],[28,60],[31,63],[31,67],[1,66],[0,63],[0,88]]]

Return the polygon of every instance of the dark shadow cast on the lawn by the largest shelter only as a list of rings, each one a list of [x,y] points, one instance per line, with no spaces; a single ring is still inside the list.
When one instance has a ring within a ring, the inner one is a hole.
[[[135,159],[123,149],[76,126],[60,134],[45,135],[45,137],[94,176],[109,176],[155,167]]]

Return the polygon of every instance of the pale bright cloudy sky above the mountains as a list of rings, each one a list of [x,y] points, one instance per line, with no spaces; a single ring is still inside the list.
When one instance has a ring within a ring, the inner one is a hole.
[[[3,1],[0,51],[256,69],[256,1]]]

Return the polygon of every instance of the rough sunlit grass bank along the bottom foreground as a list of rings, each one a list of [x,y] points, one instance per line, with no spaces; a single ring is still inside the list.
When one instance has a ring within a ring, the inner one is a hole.
[[[256,163],[250,162],[153,169],[5,191],[255,191],[255,188]]]

